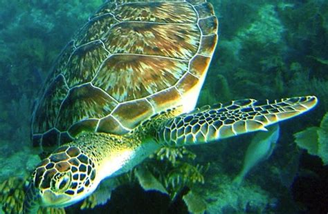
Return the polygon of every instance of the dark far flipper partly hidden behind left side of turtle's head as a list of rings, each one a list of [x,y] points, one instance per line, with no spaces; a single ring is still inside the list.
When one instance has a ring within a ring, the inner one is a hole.
[[[23,213],[24,214],[32,214],[37,213],[40,206],[40,194],[37,188],[35,188],[34,184],[31,183],[28,186],[28,190],[26,191],[24,204],[23,204]]]

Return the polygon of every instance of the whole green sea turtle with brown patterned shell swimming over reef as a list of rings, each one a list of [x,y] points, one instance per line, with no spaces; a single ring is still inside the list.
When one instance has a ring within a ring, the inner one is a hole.
[[[64,48],[35,105],[33,145],[57,149],[33,172],[24,212],[74,204],[163,145],[266,130],[316,105],[307,96],[194,110],[217,24],[206,0],[104,3]]]

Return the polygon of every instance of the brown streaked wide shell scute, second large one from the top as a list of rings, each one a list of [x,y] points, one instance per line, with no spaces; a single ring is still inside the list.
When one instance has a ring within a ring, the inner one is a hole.
[[[121,22],[104,44],[111,53],[158,55],[189,60],[199,46],[197,24]]]

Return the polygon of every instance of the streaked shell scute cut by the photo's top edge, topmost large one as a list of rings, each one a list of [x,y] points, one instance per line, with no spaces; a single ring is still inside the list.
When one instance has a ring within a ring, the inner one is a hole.
[[[157,23],[196,23],[197,14],[186,2],[127,3],[118,6],[116,18],[121,21],[153,21]]]

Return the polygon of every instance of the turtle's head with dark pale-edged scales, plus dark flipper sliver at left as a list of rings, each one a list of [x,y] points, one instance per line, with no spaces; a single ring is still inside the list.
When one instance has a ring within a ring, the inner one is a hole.
[[[32,174],[24,202],[26,213],[35,204],[64,207],[84,199],[100,183],[95,175],[93,160],[80,148],[68,145],[57,148]]]

